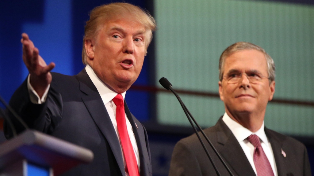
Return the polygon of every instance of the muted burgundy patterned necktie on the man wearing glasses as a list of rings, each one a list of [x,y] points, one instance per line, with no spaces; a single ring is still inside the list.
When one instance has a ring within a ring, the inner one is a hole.
[[[261,142],[259,141],[259,137],[255,134],[251,134],[249,137],[247,137],[247,140],[255,147],[253,160],[257,176],[274,176],[273,169],[264,153]]]

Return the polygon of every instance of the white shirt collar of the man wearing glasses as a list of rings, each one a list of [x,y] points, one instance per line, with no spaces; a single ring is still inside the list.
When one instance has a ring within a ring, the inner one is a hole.
[[[264,130],[264,121],[260,129],[257,130],[257,132],[251,132],[247,128],[243,127],[233,119],[231,119],[228,114],[225,112],[224,116],[222,117],[222,120],[225,122],[227,127],[231,130],[233,135],[236,137],[238,142],[241,142],[245,140],[247,137],[249,137],[251,134],[256,134],[267,146],[268,146],[268,139],[265,134]]]

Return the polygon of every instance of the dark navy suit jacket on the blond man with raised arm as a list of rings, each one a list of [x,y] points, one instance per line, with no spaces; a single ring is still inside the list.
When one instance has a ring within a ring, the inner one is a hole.
[[[52,73],[52,82],[46,102],[41,105],[30,102],[27,82],[15,91],[10,105],[25,120],[30,128],[89,148],[94,160],[64,173],[64,176],[125,175],[122,151],[106,107],[85,69],[78,75],[67,76]],[[138,145],[140,175],[152,175],[151,157],[145,128],[131,114],[125,103]],[[8,113],[12,117],[12,114]],[[18,132],[24,128],[14,121]],[[5,125],[7,138],[11,129]]]

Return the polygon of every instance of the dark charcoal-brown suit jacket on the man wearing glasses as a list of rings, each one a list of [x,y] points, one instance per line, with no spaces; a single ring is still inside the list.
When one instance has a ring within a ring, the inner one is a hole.
[[[235,176],[255,176],[239,142],[223,122],[222,117],[214,127],[207,128],[204,132]],[[279,176],[311,176],[307,151],[301,142],[267,128],[265,133],[273,149]],[[202,139],[219,173],[223,176],[230,175],[205,138]],[[286,157],[281,154],[281,149],[286,153]],[[181,139],[173,150],[169,176],[179,175],[217,175],[195,134]]]

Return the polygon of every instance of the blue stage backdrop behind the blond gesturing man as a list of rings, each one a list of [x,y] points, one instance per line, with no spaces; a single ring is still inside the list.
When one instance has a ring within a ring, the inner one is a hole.
[[[0,1],[0,95],[6,101],[25,80],[28,70],[22,60],[23,32],[29,34],[47,64],[55,62],[54,72],[75,75],[82,64],[82,41],[85,21],[91,9],[109,0],[10,0]],[[124,1],[142,8],[144,0]],[[135,85],[147,85],[149,55]],[[141,121],[148,120],[149,94],[128,91],[126,100],[133,114]],[[135,106],[135,104],[139,106]],[[140,108],[139,108],[140,107]]]

